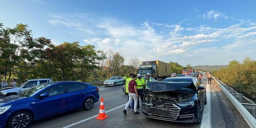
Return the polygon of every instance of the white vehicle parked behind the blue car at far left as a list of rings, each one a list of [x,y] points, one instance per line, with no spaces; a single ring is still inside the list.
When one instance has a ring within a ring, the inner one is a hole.
[[[34,86],[37,86],[39,84],[52,82],[53,80],[51,78],[46,79],[29,79],[27,82],[20,85],[20,87],[7,87],[0,90],[1,96],[11,96],[11,95],[17,95],[21,92],[24,92],[25,90],[28,90]]]

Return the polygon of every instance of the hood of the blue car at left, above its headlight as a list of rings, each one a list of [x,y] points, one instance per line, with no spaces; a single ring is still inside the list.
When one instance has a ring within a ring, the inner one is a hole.
[[[27,98],[28,97],[21,97],[20,95],[7,96],[0,99],[0,106],[24,102]]]

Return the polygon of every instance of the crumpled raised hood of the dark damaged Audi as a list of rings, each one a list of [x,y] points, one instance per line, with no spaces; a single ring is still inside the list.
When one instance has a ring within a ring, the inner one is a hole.
[[[165,92],[179,90],[182,88],[189,87],[190,89],[196,90],[193,82],[155,82],[148,81],[147,87],[153,92]]]

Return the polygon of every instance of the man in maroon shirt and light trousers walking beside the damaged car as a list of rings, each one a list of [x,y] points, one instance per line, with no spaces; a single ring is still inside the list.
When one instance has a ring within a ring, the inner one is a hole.
[[[138,104],[138,92],[137,92],[137,83],[136,80],[137,79],[137,75],[134,74],[132,76],[132,80],[129,82],[128,85],[128,89],[129,89],[129,101],[127,102],[127,104],[125,105],[125,109],[123,110],[124,115],[126,115],[126,110],[128,108],[128,106],[130,105],[130,103],[132,102],[132,99],[134,100],[134,114],[139,114],[139,112],[137,111],[137,104]]]

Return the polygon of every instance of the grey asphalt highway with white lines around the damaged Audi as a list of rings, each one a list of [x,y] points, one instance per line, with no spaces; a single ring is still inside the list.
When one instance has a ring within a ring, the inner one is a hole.
[[[202,78],[206,87],[207,105],[204,105],[202,123],[175,123],[150,119],[142,114],[133,115],[128,110],[127,115],[123,114],[124,105],[127,102],[127,95],[122,92],[122,85],[116,87],[100,87],[100,97],[104,98],[106,115],[105,120],[97,120],[100,101],[94,104],[91,110],[72,110],[56,116],[44,118],[33,122],[31,128],[120,128],[120,127],[194,127],[194,128],[247,128],[249,127],[237,109],[229,101],[220,87],[213,81],[211,85],[206,84],[206,78]],[[140,108],[138,108],[140,112]]]

